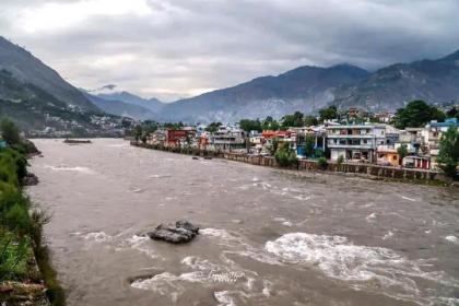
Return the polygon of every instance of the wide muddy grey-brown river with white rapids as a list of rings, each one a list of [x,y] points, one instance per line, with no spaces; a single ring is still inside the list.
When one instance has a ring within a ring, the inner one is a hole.
[[[459,190],[34,141],[70,306],[459,305]],[[188,245],[143,234],[187,219]]]

